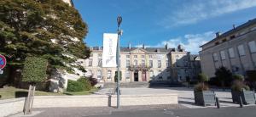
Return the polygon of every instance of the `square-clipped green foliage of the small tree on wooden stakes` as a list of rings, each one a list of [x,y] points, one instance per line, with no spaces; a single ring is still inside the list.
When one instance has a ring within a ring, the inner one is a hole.
[[[22,81],[43,82],[47,79],[47,59],[27,57],[22,71]]]

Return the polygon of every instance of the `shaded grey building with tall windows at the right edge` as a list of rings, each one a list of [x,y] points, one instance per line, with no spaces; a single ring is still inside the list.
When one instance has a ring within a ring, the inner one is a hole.
[[[210,77],[221,66],[233,74],[246,75],[256,70],[256,19],[235,27],[202,45],[200,52],[202,72]]]

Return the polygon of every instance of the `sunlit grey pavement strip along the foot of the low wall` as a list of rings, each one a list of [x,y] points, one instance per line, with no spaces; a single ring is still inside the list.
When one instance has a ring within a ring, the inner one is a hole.
[[[95,108],[41,108],[33,109],[32,114],[23,115],[23,113],[14,114],[10,117],[81,117],[81,116],[93,116],[93,115],[107,115],[116,112],[136,112],[136,111],[153,111],[164,109],[186,109],[179,104],[168,105],[150,105],[150,106],[125,106],[120,109],[112,107],[95,107]]]

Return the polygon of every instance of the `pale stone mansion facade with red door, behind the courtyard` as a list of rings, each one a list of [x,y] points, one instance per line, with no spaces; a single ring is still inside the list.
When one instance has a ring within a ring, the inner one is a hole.
[[[90,49],[90,58],[84,63],[86,75],[99,81],[114,82],[117,68],[102,68],[102,47]],[[128,47],[120,47],[120,81],[184,81],[186,77],[193,76],[191,63],[189,52],[181,46],[131,47],[129,44]]]

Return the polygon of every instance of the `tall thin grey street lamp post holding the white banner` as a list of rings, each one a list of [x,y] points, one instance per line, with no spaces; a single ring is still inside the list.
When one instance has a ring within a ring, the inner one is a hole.
[[[118,53],[117,53],[117,61],[118,61],[118,81],[117,81],[117,109],[119,109],[119,106],[120,106],[120,87],[119,87],[119,79],[120,79],[120,57],[119,57],[119,53],[120,53],[120,46],[119,46],[119,39],[120,39],[120,35],[121,35],[121,32],[119,30],[119,26],[120,24],[122,23],[122,17],[121,16],[118,16],[117,18],[117,23],[118,23]]]

